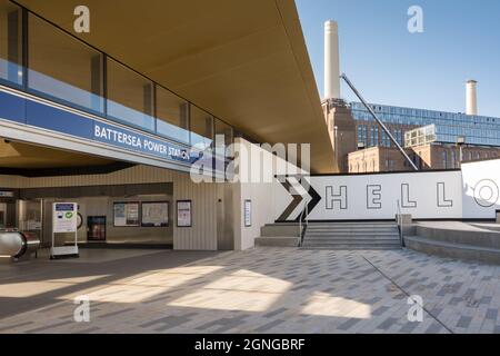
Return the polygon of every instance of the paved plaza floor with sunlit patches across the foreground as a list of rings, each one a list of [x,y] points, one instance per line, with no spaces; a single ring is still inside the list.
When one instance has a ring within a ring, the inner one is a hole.
[[[412,251],[86,254],[0,266],[0,333],[500,333],[496,266]],[[74,322],[82,295],[90,323]]]

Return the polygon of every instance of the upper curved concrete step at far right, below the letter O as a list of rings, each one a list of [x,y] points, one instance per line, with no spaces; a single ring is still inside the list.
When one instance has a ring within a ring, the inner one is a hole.
[[[497,231],[459,230],[417,226],[414,235],[447,244],[500,249],[500,233]]]

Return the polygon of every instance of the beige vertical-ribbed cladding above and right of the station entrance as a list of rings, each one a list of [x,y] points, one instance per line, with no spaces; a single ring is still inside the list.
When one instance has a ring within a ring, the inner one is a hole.
[[[84,187],[102,185],[129,185],[173,182],[171,201],[173,248],[181,250],[217,250],[217,186],[194,184],[188,174],[136,166],[108,175],[26,178],[0,176],[2,188]],[[177,200],[192,200],[192,227],[177,227]]]

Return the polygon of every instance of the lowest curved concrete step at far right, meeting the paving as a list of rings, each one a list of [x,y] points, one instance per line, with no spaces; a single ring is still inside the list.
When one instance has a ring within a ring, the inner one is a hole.
[[[404,237],[407,248],[442,257],[500,265],[500,249],[466,244],[450,244],[420,236]]]

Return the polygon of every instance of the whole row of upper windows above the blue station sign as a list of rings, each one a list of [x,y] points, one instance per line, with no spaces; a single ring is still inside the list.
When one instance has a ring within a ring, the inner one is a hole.
[[[212,150],[214,135],[223,135],[224,147],[234,139],[233,128],[210,112],[7,0],[0,0],[0,83],[186,147]]]

